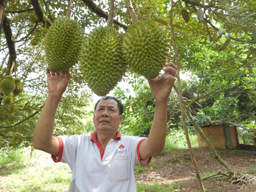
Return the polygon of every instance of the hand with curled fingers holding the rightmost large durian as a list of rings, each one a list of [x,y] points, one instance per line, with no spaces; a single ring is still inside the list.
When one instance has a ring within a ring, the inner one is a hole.
[[[168,101],[174,85],[174,76],[177,69],[178,68],[172,62],[166,62],[165,67],[162,68],[165,73],[161,77],[152,80],[148,79],[151,92],[154,95],[156,102]]]

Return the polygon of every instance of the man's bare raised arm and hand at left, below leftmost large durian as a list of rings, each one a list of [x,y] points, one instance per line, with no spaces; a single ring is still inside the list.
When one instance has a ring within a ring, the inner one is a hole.
[[[69,84],[70,73],[51,73],[47,67],[46,74],[49,93],[35,128],[33,147],[58,157],[59,141],[53,137],[54,120],[61,96]]]

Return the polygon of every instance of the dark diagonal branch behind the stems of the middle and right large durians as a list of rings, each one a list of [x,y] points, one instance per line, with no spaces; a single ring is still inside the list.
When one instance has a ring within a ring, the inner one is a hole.
[[[108,15],[98,5],[96,5],[92,0],[82,0],[82,2],[84,2],[85,5],[87,5],[87,7],[89,9],[91,9],[91,11],[94,12],[96,15],[108,20]],[[114,22],[114,24],[119,25],[123,29],[125,29],[125,30],[127,29],[127,26],[122,23],[119,23],[119,21],[114,20],[113,22]]]

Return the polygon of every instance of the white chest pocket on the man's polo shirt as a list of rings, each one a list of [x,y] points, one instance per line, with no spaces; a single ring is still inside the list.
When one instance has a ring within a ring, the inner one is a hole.
[[[108,174],[110,182],[122,182],[130,180],[130,169],[127,155],[115,155]]]

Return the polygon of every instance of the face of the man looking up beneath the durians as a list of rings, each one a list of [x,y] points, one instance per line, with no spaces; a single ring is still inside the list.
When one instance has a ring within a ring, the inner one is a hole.
[[[117,131],[123,116],[119,115],[117,102],[114,99],[101,100],[93,114],[93,124],[96,131]]]

